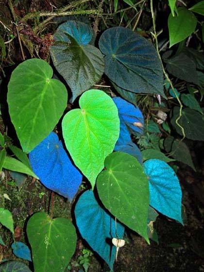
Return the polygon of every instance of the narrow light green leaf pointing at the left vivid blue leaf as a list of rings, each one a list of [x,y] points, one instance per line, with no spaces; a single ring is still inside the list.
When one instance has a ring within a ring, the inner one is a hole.
[[[30,168],[28,168],[25,164],[23,164],[22,162],[18,161],[15,158],[6,156],[4,160],[3,168],[24,173],[38,179],[38,177],[34,174],[34,172]]]

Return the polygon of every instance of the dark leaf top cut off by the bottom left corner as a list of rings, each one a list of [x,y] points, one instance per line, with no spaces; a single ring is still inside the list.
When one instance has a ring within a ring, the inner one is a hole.
[[[31,272],[31,270],[24,263],[8,261],[0,265],[0,272]]]

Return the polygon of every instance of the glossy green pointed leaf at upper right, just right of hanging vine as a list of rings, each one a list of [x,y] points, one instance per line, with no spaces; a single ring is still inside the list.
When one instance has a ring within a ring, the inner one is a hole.
[[[170,14],[168,18],[168,27],[170,32],[170,47],[195,31],[197,19],[194,14],[186,8],[178,8],[178,16],[173,17]]]

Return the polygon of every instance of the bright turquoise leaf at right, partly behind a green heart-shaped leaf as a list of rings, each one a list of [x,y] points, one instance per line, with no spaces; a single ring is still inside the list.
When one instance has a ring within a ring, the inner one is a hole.
[[[175,172],[166,162],[157,159],[145,161],[144,169],[149,177],[150,205],[183,224],[182,191]]]

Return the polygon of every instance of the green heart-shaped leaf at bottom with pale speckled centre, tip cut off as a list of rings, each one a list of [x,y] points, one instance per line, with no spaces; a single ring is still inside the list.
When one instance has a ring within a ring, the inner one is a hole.
[[[34,272],[64,272],[76,249],[77,236],[71,221],[37,212],[29,219],[26,232]]]

